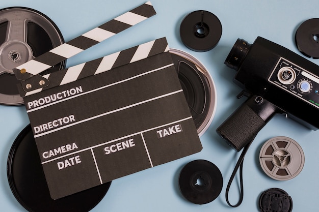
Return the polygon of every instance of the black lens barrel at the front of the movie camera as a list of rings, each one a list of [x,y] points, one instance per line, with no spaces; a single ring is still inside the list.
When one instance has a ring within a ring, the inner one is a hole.
[[[224,64],[237,71],[238,67],[240,67],[240,64],[248,53],[250,46],[251,44],[249,44],[247,41],[238,38],[230,50]]]

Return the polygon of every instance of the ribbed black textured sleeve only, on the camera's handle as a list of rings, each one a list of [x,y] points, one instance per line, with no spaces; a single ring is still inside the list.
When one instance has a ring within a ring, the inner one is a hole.
[[[239,152],[265,124],[264,120],[244,103],[216,131]]]

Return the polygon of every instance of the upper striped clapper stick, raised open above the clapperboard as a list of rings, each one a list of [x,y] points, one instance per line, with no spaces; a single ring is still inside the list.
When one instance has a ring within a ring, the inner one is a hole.
[[[13,72],[18,80],[24,81],[155,14],[151,3],[146,2],[35,59],[29,60],[29,62],[13,69]]]

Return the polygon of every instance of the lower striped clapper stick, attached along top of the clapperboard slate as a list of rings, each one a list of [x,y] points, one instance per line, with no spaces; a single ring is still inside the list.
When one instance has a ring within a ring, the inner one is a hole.
[[[111,69],[127,65],[145,59],[149,56],[164,53],[169,51],[169,46],[166,38],[159,38],[154,41],[150,41],[129,49],[115,52],[113,54],[91,60],[86,63],[82,63],[76,66],[69,67],[67,69],[54,72],[51,74],[43,75],[43,79],[49,81],[49,85],[40,88],[19,89],[20,96],[26,97],[33,94],[42,92],[42,90],[50,89],[56,86],[61,86],[70,82],[74,82],[78,79],[82,79],[88,76],[100,74]],[[32,77],[28,79],[27,83],[39,84],[38,79]],[[25,90],[27,90],[25,92]]]

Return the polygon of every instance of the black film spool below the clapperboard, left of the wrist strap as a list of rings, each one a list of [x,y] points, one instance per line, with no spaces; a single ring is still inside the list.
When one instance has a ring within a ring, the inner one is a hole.
[[[192,161],[180,172],[179,189],[187,200],[195,204],[206,204],[215,200],[222,188],[222,173],[209,161]]]

